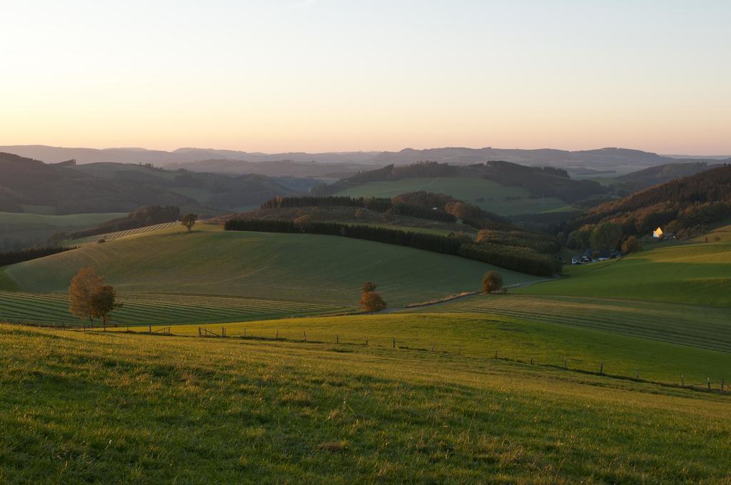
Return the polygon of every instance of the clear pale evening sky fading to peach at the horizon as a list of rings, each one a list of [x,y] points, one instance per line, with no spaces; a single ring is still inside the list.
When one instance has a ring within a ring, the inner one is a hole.
[[[0,1],[0,145],[731,153],[731,1]]]

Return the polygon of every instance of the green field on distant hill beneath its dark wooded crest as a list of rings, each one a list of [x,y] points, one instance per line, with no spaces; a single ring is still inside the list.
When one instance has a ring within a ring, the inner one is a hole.
[[[409,178],[368,182],[338,192],[337,195],[393,197],[414,191],[447,194],[455,197],[455,199],[479,205],[482,209],[499,215],[542,213],[567,206],[566,202],[556,197],[531,199],[525,188],[501,186],[492,180],[473,177]],[[515,197],[516,199],[506,200],[506,197]],[[484,200],[480,202],[477,199]]]

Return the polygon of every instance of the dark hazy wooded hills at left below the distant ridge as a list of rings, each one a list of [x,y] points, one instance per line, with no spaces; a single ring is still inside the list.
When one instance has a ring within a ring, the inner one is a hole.
[[[205,215],[306,191],[311,180],[173,172],[134,164],[45,164],[0,153],[0,210],[51,214],[129,212],[173,205]],[[27,209],[27,210],[26,210]]]

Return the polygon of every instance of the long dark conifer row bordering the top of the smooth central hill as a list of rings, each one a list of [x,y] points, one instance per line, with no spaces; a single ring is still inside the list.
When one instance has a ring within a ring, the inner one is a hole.
[[[505,245],[480,245],[465,242],[458,237],[426,234],[423,232],[406,232],[378,226],[359,224],[341,224],[337,222],[311,222],[306,224],[295,221],[266,219],[232,219],[224,225],[227,231],[254,232],[306,232],[309,234],[327,234],[355,239],[385,242],[403,245],[409,248],[423,249],[434,253],[463,256],[489,264],[506,267],[510,270],[526,272],[533,275],[553,275],[561,271],[561,264],[551,256],[540,254],[530,248],[512,248]]]

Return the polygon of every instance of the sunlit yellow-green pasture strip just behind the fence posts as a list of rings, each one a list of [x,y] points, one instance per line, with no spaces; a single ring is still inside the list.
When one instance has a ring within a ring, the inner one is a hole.
[[[711,377],[713,389],[721,378],[731,376],[731,345],[726,348],[702,347],[685,343],[647,340],[642,332],[618,335],[602,328],[577,327],[555,321],[531,321],[474,309],[470,313],[393,313],[362,316],[324,316],[249,321],[233,324],[201,324],[227,337],[287,340],[293,343],[329,343],[363,351],[361,347],[441,354],[452,359],[461,354],[474,359],[518,360],[535,364],[567,366],[573,370],[640,378],[667,383],[705,383]],[[550,323],[550,324],[547,324]],[[132,328],[132,327],[131,327]],[[160,330],[162,326],[153,326]],[[171,326],[173,335],[197,337],[199,325]],[[109,329],[126,331],[124,327]],[[148,332],[147,327],[132,328]],[[205,332],[204,332],[205,333]],[[699,332],[700,333],[700,332]],[[727,335],[729,332],[726,332]],[[432,350],[433,349],[433,350]],[[366,349],[367,350],[367,349]]]

